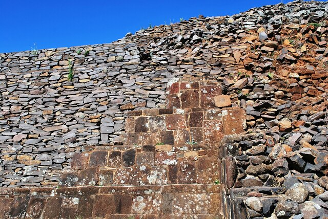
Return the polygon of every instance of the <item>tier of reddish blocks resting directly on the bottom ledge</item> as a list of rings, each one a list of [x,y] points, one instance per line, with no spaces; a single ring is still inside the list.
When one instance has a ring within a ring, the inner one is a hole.
[[[144,145],[78,153],[60,186],[211,184],[220,181],[216,144]]]

